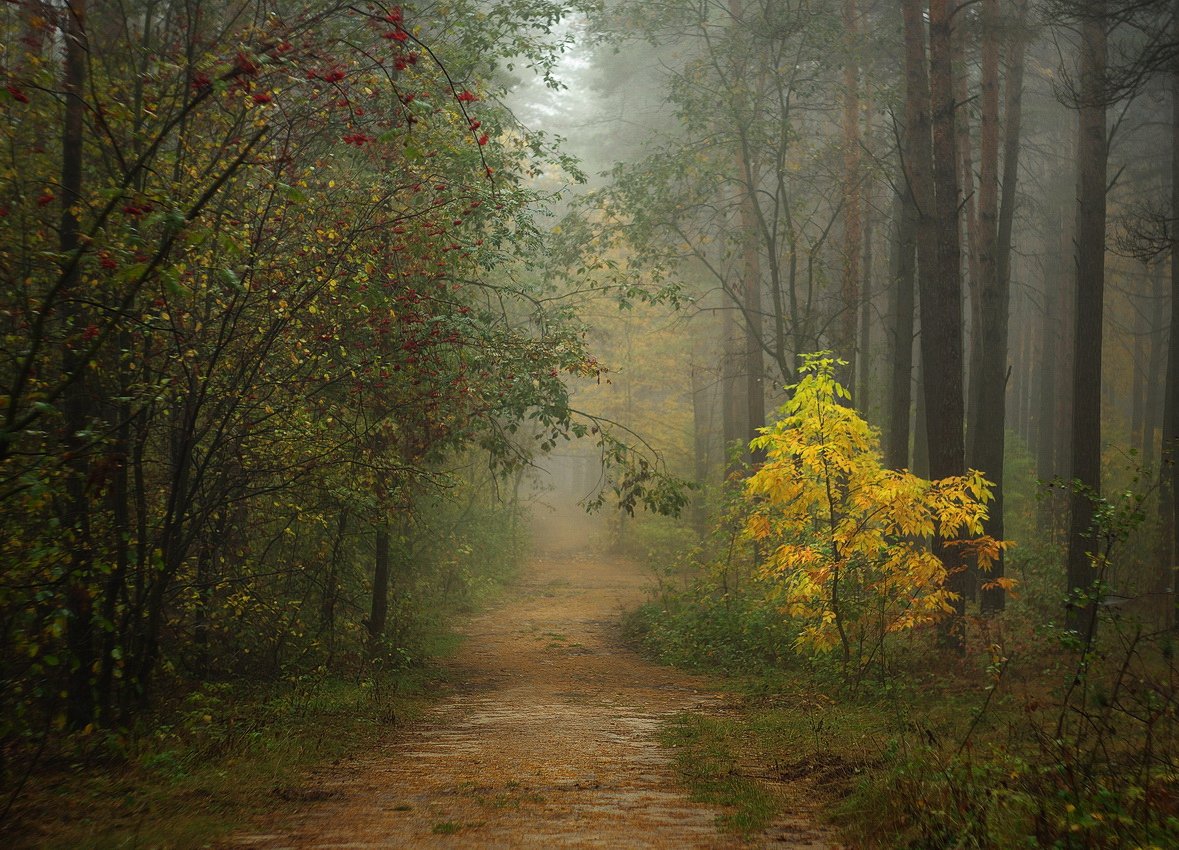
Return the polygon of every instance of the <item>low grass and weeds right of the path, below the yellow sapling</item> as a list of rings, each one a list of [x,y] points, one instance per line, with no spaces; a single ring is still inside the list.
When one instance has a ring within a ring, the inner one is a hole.
[[[1175,703],[1142,684],[1174,667],[1147,650],[1127,665],[1107,632],[1086,699],[1066,697],[1075,658],[1048,637],[999,673],[907,635],[890,676],[854,688],[805,660],[712,667],[732,711],[679,716],[664,742],[693,796],[742,835],[804,810],[865,850],[1179,846]]]

